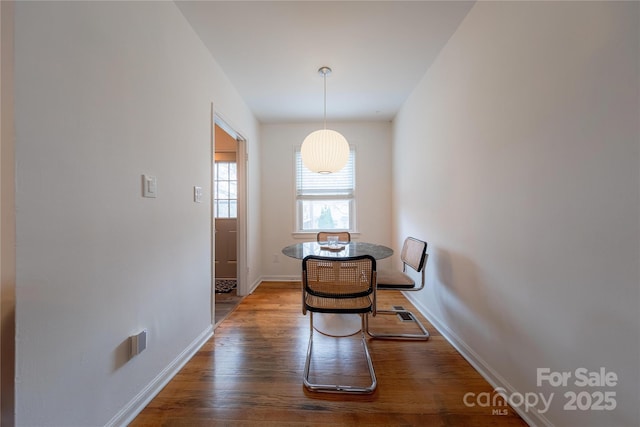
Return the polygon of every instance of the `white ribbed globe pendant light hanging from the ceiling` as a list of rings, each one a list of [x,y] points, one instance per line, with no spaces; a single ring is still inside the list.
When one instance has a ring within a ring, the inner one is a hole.
[[[324,78],[324,128],[311,132],[302,142],[302,163],[317,173],[338,172],[349,160],[349,143],[335,130],[327,129],[327,74],[331,68],[320,67],[318,73]]]

